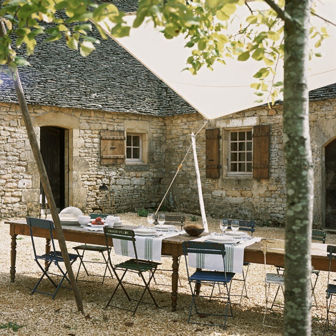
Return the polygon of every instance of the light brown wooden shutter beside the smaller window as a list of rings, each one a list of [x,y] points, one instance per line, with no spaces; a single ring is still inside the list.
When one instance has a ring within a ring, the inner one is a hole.
[[[100,130],[101,164],[125,162],[125,131]]]

